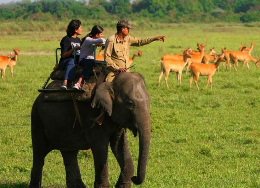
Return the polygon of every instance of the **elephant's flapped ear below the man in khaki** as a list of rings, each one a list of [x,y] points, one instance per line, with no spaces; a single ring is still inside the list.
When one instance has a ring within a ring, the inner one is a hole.
[[[113,83],[103,82],[97,87],[91,106],[101,107],[111,116],[114,98]]]

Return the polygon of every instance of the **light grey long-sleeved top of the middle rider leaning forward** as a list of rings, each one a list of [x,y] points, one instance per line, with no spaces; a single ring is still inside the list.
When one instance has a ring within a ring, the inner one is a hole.
[[[92,39],[91,37],[87,37],[80,48],[79,61],[81,61],[83,58],[94,59],[93,44],[96,43],[105,44],[105,42],[106,40],[103,38]]]

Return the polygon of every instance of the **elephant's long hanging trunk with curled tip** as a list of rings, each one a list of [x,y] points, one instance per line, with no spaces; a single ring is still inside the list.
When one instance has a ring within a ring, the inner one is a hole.
[[[137,176],[132,177],[134,184],[139,185],[144,182],[146,165],[148,160],[149,148],[150,148],[150,138],[151,138],[151,128],[150,128],[150,115],[148,117],[142,117],[145,122],[139,123],[137,121],[137,128],[139,134],[139,157],[138,157],[138,167]],[[142,120],[141,120],[142,121]]]

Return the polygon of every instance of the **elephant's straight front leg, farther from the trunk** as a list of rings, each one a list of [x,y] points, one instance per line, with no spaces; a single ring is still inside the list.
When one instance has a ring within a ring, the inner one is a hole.
[[[99,125],[99,127],[101,126]],[[95,166],[94,188],[108,188],[107,154],[109,136],[103,134],[102,130],[99,130],[98,132],[99,133],[91,136],[91,150]]]

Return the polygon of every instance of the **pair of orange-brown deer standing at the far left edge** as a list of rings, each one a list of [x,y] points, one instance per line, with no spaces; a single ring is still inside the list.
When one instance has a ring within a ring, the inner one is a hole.
[[[0,71],[1,71],[1,77],[4,81],[4,77],[5,77],[5,70],[7,67],[10,67],[10,71],[11,71],[11,75],[12,75],[12,79],[14,78],[14,65],[16,65],[17,62],[17,56],[20,52],[19,48],[14,48],[13,49],[14,54],[10,53],[7,56],[4,55],[0,55]]]

